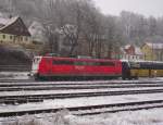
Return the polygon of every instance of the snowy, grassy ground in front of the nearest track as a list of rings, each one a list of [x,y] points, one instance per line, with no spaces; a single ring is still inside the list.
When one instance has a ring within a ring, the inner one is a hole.
[[[163,125],[163,109],[105,113],[93,116],[75,116],[63,110],[55,114],[42,115],[42,118],[38,118],[37,115],[9,117],[1,120],[5,121],[1,125]]]

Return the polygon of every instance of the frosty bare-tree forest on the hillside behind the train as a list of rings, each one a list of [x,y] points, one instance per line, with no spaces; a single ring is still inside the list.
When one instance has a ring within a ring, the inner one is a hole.
[[[163,17],[126,11],[120,16],[104,15],[92,0],[0,0],[0,12],[20,15],[27,26],[41,23],[47,47],[54,53],[60,53],[60,34],[68,42],[68,55],[76,52],[80,39],[88,42],[88,54],[97,58],[102,47],[110,57],[126,43],[163,42]]]

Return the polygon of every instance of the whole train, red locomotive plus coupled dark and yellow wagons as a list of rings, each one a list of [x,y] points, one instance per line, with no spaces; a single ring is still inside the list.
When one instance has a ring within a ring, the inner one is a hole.
[[[35,57],[32,66],[35,79],[120,78],[163,76],[163,62],[122,61],[106,59]]]

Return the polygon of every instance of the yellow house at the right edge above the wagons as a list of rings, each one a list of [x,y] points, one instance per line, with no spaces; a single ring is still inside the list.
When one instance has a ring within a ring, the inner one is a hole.
[[[145,60],[163,61],[163,43],[145,42],[141,51]]]

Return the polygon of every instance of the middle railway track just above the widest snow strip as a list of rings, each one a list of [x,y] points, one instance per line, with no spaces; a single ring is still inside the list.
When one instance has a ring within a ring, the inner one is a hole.
[[[163,89],[146,89],[146,90],[120,90],[120,91],[95,91],[95,92],[66,92],[66,93],[37,93],[37,95],[10,95],[0,96],[0,103],[21,104],[28,102],[41,102],[49,99],[67,99],[83,97],[105,97],[122,95],[141,95],[141,93],[160,93]]]

